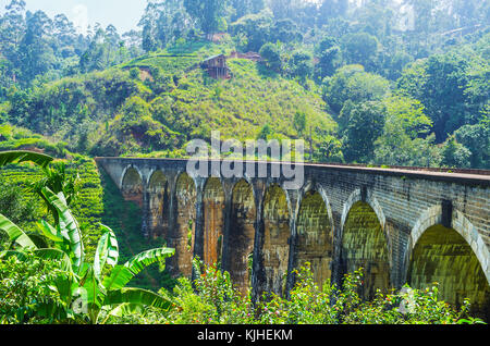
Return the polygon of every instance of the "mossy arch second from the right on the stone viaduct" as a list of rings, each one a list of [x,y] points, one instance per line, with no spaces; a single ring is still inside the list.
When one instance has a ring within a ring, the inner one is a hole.
[[[356,198],[359,197],[359,198]],[[363,268],[362,297],[372,299],[377,289],[388,293],[391,286],[391,261],[388,237],[380,212],[376,212],[372,198],[362,200],[360,194],[351,198],[342,218],[340,264],[341,274]],[[379,205],[378,205],[379,207]]]

